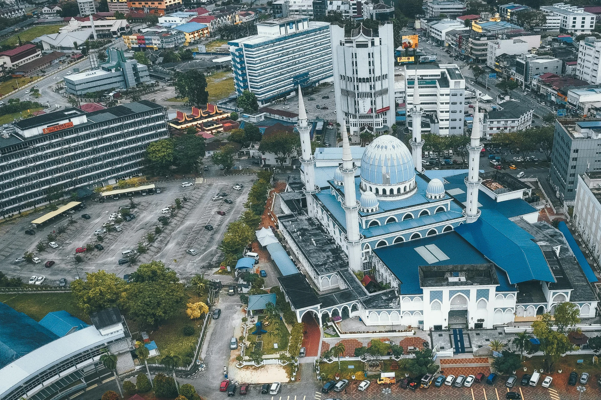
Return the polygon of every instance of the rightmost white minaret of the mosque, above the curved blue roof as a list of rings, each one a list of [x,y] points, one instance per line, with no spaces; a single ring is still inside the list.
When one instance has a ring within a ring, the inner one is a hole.
[[[481,212],[478,209],[478,191],[482,182],[482,178],[478,175],[480,173],[480,152],[483,148],[483,145],[480,144],[480,134],[480,110],[478,109],[478,93],[476,93],[476,108],[474,110],[471,142],[466,146],[469,152],[469,171],[468,176],[465,178],[465,184],[468,187],[468,198],[463,215],[466,216],[468,224],[475,222]]]

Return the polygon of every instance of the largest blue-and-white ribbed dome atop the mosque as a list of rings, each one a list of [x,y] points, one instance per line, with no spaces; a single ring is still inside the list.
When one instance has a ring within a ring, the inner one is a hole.
[[[361,178],[376,185],[396,185],[415,178],[415,166],[407,146],[390,135],[370,143],[361,159]]]

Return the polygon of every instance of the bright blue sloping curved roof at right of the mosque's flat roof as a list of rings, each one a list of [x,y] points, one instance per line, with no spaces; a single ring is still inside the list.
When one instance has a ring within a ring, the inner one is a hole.
[[[495,210],[483,209],[480,218],[455,231],[502,270],[512,284],[525,281],[555,282],[534,236]]]

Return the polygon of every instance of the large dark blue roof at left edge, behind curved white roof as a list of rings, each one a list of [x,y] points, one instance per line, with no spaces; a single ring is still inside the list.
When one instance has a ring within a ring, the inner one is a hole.
[[[0,303],[0,368],[56,339],[33,318]]]

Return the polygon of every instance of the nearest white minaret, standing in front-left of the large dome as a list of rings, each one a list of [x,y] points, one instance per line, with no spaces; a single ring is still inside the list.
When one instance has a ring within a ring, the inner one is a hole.
[[[355,171],[353,156],[350,154],[349,136],[346,127],[340,127],[342,135],[342,165],[339,167],[344,176],[344,215],[346,216],[346,245],[349,249],[349,267],[354,272],[362,270],[361,234],[359,234],[359,201],[355,192]]]

